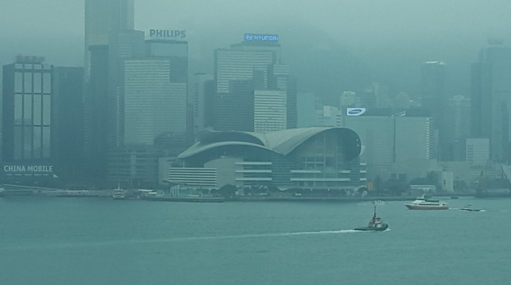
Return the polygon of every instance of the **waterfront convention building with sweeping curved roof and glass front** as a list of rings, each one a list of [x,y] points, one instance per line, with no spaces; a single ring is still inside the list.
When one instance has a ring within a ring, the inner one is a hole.
[[[351,129],[204,131],[197,140],[178,156],[183,168],[170,168],[169,180],[217,187],[343,188],[365,184],[365,170],[356,159],[360,138]]]

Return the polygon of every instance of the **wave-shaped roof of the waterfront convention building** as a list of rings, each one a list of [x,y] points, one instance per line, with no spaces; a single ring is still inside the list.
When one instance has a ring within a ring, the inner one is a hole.
[[[221,146],[244,145],[274,151],[279,154],[288,155],[299,145],[309,138],[324,131],[337,131],[342,136],[350,136],[355,139],[357,150],[356,156],[360,154],[360,138],[355,131],[346,128],[334,127],[313,127],[290,129],[268,133],[255,133],[243,131],[203,131],[197,135],[198,143],[181,153],[179,158],[186,158],[205,150]]]

